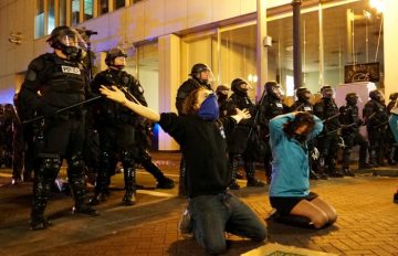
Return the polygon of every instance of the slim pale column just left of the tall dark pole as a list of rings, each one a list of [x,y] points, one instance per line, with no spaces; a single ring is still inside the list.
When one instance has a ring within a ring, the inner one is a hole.
[[[256,0],[258,35],[256,35],[256,99],[260,100],[263,85],[268,81],[268,49],[263,44],[266,36],[266,6],[265,0]]]

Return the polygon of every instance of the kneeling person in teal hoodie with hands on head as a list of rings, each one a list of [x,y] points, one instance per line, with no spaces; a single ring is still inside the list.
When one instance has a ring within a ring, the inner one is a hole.
[[[304,217],[315,228],[336,221],[336,211],[310,192],[307,141],[323,129],[320,118],[310,113],[280,115],[270,121],[272,179],[270,202],[280,216]]]

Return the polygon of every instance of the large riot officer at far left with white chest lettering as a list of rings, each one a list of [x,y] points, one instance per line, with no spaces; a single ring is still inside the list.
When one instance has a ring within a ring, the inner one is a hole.
[[[22,100],[45,117],[44,145],[39,154],[41,163],[34,173],[32,230],[50,225],[44,210],[62,159],[67,162],[67,178],[75,201],[73,212],[98,215],[84,202],[84,109],[75,107],[56,113],[85,100],[88,86],[81,64],[85,42],[76,30],[64,25],[55,28],[48,42],[54,52],[40,55],[29,64],[20,92]]]

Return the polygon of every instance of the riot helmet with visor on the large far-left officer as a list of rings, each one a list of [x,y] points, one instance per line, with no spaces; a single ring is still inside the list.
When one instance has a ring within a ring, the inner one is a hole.
[[[67,25],[53,29],[46,42],[53,49],[61,50],[71,61],[78,62],[87,51],[87,44],[80,33]]]

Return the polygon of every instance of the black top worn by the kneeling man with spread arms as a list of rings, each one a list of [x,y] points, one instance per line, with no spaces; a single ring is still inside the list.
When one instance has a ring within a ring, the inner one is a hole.
[[[160,115],[161,128],[181,146],[189,198],[227,190],[230,171],[226,135],[231,132],[235,124],[231,117],[207,121],[192,115]]]

